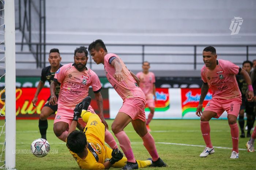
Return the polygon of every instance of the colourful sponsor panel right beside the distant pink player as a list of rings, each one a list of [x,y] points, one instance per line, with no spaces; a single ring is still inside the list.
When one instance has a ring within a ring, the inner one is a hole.
[[[170,108],[169,90],[168,88],[156,88],[155,95],[157,102],[155,102],[155,112],[164,112]],[[146,105],[145,111],[150,111]]]

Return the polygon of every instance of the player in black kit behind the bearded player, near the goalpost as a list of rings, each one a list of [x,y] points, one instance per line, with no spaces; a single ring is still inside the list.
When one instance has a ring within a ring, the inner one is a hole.
[[[39,81],[39,83],[38,83],[37,91],[35,92],[34,99],[32,100],[34,107],[37,107],[37,105],[35,105],[35,103],[38,100],[38,94],[44,87],[45,82],[48,81],[49,84],[51,84],[53,81],[55,72],[60,67],[62,67],[62,65],[60,64],[61,57],[60,57],[59,49],[53,48],[50,50],[48,61],[50,63],[50,66],[42,69],[41,81]],[[59,92],[60,92],[60,86],[57,86],[56,92],[55,92],[55,95],[57,98],[59,96]],[[58,109],[57,105],[49,105],[49,99],[50,99],[50,97],[48,98],[44,107],[41,110],[41,114],[40,114],[40,118],[39,118],[39,125],[38,125],[39,131],[41,133],[41,138],[44,138],[44,139],[46,139],[46,130],[48,128],[47,118],[51,114],[54,114]]]

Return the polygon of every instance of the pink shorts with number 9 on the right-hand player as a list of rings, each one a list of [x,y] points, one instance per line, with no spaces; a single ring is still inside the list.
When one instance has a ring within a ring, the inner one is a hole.
[[[211,111],[217,113],[215,118],[219,118],[226,110],[227,114],[238,116],[242,100],[240,98],[234,99],[211,99],[204,107],[204,111]]]

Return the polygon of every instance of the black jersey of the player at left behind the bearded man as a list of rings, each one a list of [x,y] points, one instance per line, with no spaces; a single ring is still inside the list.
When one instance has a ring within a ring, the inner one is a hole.
[[[63,65],[60,64],[60,67],[62,67]],[[51,73],[51,66],[45,67],[42,69],[42,73],[41,73],[41,81],[42,82],[46,82],[46,80],[49,82],[49,84],[52,83],[55,72]],[[56,91],[55,91],[55,95],[59,95],[60,92],[60,85],[56,86]]]

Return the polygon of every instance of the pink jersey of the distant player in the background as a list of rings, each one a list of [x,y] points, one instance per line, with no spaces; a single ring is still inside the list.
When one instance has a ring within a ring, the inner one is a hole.
[[[146,95],[146,100],[153,99],[155,83],[154,73],[148,72],[147,74],[144,74],[143,72],[138,72],[136,76],[140,79],[140,88]]]

